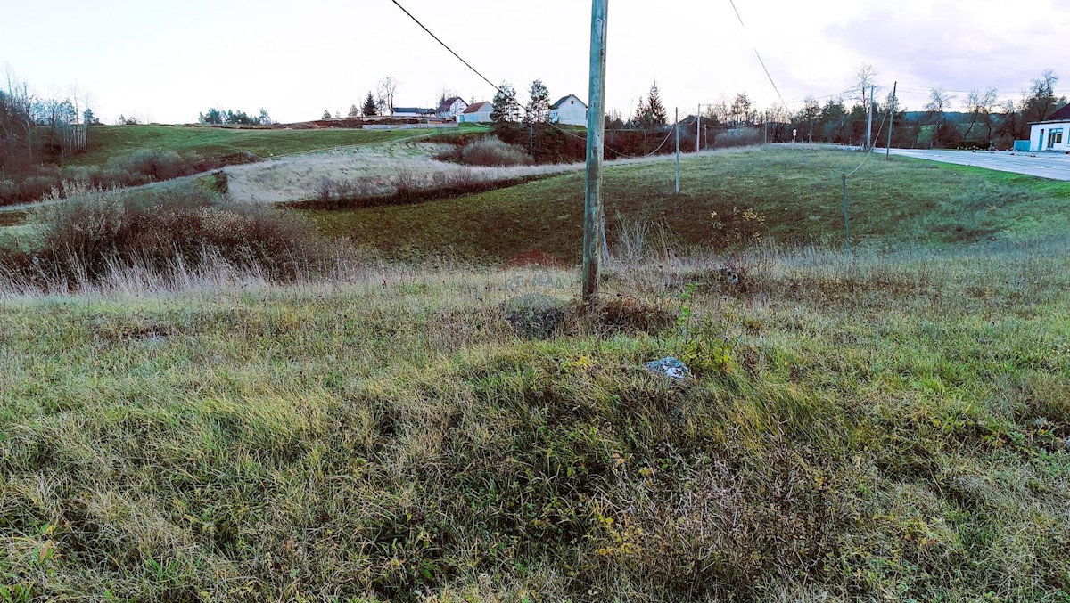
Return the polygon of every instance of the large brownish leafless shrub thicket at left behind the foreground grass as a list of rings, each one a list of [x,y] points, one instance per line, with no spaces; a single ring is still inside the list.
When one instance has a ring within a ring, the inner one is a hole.
[[[148,199],[97,190],[52,205],[41,217],[39,248],[0,256],[0,273],[77,288],[117,268],[167,275],[223,261],[286,281],[321,258],[312,231],[302,222],[264,207],[220,203],[195,186]]]

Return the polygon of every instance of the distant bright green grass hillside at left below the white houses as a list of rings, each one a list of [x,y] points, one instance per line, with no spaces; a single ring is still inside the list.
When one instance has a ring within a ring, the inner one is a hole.
[[[89,130],[89,151],[77,156],[72,165],[102,166],[111,157],[129,154],[140,149],[195,153],[205,159],[243,152],[253,153],[260,157],[273,157],[335,146],[389,142],[430,136],[438,132],[440,130],[96,126]]]

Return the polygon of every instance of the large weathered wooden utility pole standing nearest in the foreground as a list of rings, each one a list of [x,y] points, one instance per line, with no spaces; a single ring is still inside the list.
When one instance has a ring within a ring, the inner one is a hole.
[[[609,0],[591,2],[591,89],[587,109],[587,185],[583,210],[584,306],[598,295],[599,229],[601,217],[601,163],[606,138],[606,17]]]

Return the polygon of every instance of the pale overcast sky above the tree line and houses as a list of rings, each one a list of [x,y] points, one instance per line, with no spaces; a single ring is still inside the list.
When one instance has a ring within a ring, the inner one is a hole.
[[[587,0],[400,1],[491,80],[524,92],[541,78],[554,98],[586,99]],[[1020,96],[1048,68],[1070,91],[1067,0],[735,2],[746,29],[729,0],[610,0],[609,108],[627,115],[655,78],[682,114],[740,91],[769,106],[755,47],[793,108],[850,88],[862,64],[887,89],[898,80],[914,109],[930,87]],[[493,95],[391,0],[5,4],[0,63],[40,94],[77,83],[107,122],[189,122],[210,106],[319,119],[360,105],[383,76],[399,80],[398,106],[430,106],[443,89]]]

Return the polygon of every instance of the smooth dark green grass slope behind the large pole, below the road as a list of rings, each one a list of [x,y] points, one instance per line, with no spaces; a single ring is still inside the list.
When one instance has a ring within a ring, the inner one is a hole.
[[[859,158],[779,150],[685,157],[678,198],[671,161],[610,167],[603,184],[609,236],[616,237],[617,216],[625,216],[663,223],[686,245],[746,244],[754,234],[782,244],[840,245],[839,173]],[[324,233],[395,257],[448,250],[507,260],[540,250],[574,262],[583,182],[577,172],[452,201],[311,215]],[[873,158],[849,182],[849,196],[852,238],[873,249],[1025,241],[1070,228],[1070,183],[981,169]],[[744,215],[750,208],[756,218]]]

